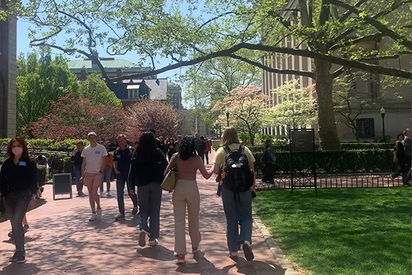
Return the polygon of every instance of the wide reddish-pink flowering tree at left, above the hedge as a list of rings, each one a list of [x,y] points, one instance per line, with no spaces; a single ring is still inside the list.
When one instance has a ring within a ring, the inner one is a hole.
[[[52,102],[52,112],[33,123],[34,137],[64,140],[84,138],[95,131],[104,142],[115,142],[124,133],[126,115],[119,107],[92,104],[91,100],[75,94],[67,94]],[[137,127],[139,128],[139,127]]]

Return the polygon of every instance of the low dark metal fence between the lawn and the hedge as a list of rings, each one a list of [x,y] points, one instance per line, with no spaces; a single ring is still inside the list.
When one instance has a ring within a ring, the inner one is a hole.
[[[317,188],[376,188],[376,187],[404,187],[402,177],[391,179],[388,173],[374,174],[317,174]],[[314,188],[310,184],[297,184],[295,189]],[[290,189],[290,175],[275,176],[275,183],[268,184],[256,179],[256,189]]]

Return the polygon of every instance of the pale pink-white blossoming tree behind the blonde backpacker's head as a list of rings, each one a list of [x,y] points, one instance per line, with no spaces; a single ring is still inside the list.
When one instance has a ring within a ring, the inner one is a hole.
[[[262,126],[262,118],[266,107],[268,96],[262,94],[262,89],[254,85],[241,85],[229,91],[221,101],[216,102],[211,109],[213,112],[221,113],[216,124],[225,124],[226,109],[229,111],[229,124],[240,132],[246,132],[255,144],[255,134]]]

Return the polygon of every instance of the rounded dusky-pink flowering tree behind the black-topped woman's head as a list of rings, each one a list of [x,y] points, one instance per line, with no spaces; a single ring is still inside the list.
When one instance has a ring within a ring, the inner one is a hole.
[[[126,133],[130,140],[137,140],[141,131],[156,130],[156,135],[175,136],[179,116],[172,106],[158,100],[141,100],[126,110]]]

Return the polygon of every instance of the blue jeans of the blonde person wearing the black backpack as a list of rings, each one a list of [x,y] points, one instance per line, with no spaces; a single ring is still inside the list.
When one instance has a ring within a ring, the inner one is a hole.
[[[222,201],[226,216],[227,247],[229,252],[237,252],[244,241],[252,243],[251,190],[235,193],[222,186]]]

